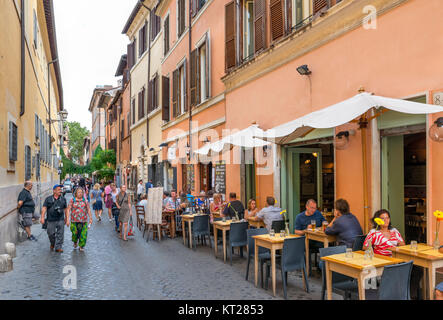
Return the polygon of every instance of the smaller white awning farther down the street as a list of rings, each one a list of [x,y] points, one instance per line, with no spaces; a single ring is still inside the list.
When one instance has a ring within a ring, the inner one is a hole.
[[[234,145],[238,147],[254,148],[269,145],[269,142],[258,139],[258,137],[263,136],[264,131],[255,124],[246,129],[226,136],[221,140],[207,144],[194,152],[202,155],[207,155],[211,151],[214,153],[219,153],[225,148],[225,146]]]

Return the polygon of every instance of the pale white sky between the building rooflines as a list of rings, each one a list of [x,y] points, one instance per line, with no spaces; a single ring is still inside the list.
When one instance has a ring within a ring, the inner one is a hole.
[[[129,40],[122,34],[137,0],[54,0],[57,47],[68,121],[91,131],[88,111],[97,85],[117,85]]]

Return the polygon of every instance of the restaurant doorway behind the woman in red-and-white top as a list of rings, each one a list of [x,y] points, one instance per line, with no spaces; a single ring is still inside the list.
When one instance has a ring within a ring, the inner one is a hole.
[[[382,207],[406,243],[426,242],[426,133],[383,136],[381,147]]]

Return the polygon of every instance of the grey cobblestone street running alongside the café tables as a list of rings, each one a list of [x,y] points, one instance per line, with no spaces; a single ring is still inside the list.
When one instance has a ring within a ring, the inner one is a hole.
[[[18,244],[14,270],[0,274],[0,299],[274,299],[272,289],[255,288],[253,263],[245,281],[246,259],[235,255],[231,267],[223,263],[220,247],[215,259],[208,246],[193,251],[181,237],[146,242],[139,230],[123,242],[114,223],[96,222],[95,217],[85,252],[74,250],[68,228],[62,254],[49,250],[40,225],[33,226],[33,234],[38,242]],[[63,288],[67,265],[76,267],[76,290]],[[292,273],[288,299],[320,299],[320,284],[318,277],[311,277],[307,294],[301,274]],[[279,270],[276,298],[283,298]]]

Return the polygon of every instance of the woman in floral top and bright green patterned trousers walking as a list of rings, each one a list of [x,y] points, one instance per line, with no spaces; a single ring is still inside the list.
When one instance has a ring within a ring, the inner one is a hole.
[[[74,249],[79,247],[79,250],[83,251],[86,246],[88,217],[89,224],[92,224],[92,214],[88,200],[86,200],[83,189],[78,188],[68,206],[68,225],[70,224]]]

